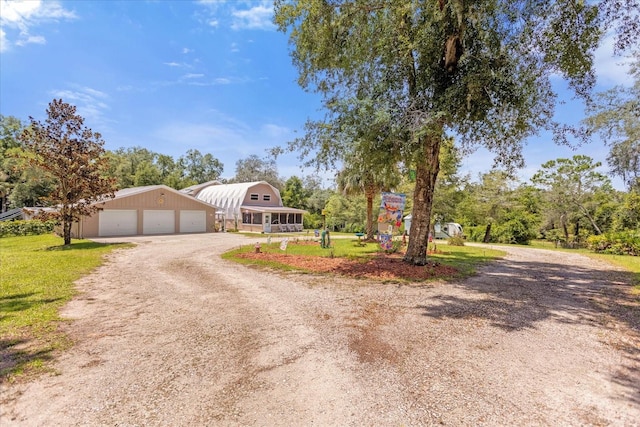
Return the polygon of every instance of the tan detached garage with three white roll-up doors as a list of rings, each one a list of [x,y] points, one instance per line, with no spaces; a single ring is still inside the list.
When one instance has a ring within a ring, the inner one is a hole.
[[[74,237],[214,231],[216,207],[165,185],[126,188],[97,203],[98,213],[74,224]]]

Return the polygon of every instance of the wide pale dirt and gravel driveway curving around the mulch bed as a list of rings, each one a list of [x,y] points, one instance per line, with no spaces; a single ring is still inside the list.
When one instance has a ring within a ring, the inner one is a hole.
[[[638,300],[593,260],[508,248],[398,285],[225,262],[232,234],[135,240],[78,282],[75,346],[3,385],[0,425],[640,423]]]

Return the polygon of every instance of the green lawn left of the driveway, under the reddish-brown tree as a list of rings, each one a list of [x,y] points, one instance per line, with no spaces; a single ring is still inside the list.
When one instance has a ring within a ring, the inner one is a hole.
[[[0,238],[0,381],[49,370],[56,350],[70,345],[58,329],[73,282],[116,247],[86,240],[60,245],[53,235]]]

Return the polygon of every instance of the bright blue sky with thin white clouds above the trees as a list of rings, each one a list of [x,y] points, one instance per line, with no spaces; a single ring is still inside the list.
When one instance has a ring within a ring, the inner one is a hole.
[[[320,97],[297,84],[287,36],[272,16],[270,1],[0,0],[0,113],[44,120],[48,103],[62,98],[107,149],[142,146],[174,158],[197,149],[218,158],[230,178],[237,160],[266,155],[321,116]],[[600,90],[631,84],[610,43],[596,60]],[[559,114],[582,118],[573,104]],[[528,141],[520,175],[574,154],[606,164],[607,152],[601,141],[572,151],[543,135]],[[479,150],[463,172],[476,177],[492,158]],[[279,158],[278,171],[312,172],[301,171],[295,155]]]

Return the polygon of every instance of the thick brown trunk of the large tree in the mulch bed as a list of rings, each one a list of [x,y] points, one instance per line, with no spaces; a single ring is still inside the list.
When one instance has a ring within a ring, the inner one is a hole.
[[[442,133],[425,136],[422,141],[423,158],[416,167],[416,186],[413,191],[413,211],[411,212],[411,230],[409,245],[404,261],[414,265],[427,264],[427,247],[429,245],[429,227],[433,190],[440,170],[440,144]]]

